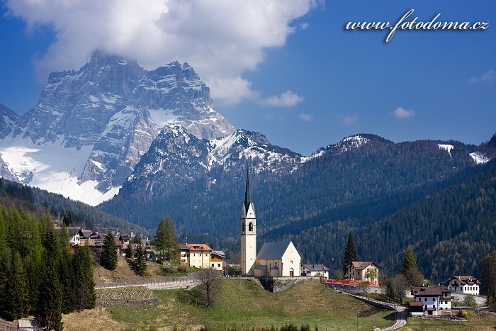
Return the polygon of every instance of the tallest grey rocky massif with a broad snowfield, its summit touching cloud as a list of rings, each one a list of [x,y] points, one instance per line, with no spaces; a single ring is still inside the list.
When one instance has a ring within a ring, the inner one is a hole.
[[[147,71],[98,51],[79,71],[50,74],[21,118],[0,108],[0,120],[4,177],[91,204],[118,191],[164,126],[208,139],[234,131],[188,64]]]

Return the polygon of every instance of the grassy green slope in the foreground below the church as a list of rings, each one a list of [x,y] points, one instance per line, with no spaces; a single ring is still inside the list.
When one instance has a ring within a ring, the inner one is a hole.
[[[258,281],[222,279],[213,307],[201,304],[199,288],[154,291],[160,303],[112,306],[63,316],[66,330],[252,330],[285,324],[319,330],[372,330],[393,325],[395,313],[379,310],[304,281],[270,293]]]

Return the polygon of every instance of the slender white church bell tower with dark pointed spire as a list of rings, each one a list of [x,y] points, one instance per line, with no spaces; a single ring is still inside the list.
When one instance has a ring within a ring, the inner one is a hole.
[[[257,260],[257,217],[249,189],[249,172],[247,170],[247,187],[241,207],[241,274],[253,276]]]

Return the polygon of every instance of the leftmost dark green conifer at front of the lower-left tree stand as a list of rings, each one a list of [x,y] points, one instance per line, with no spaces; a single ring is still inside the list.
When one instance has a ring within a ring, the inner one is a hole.
[[[4,312],[6,320],[17,320],[28,315],[28,288],[21,254],[13,251],[12,263],[7,282]]]

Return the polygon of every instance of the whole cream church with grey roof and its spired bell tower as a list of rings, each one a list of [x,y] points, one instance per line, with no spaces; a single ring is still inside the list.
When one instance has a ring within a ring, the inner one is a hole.
[[[249,172],[241,207],[241,274],[255,277],[300,276],[301,257],[291,241],[266,242],[257,254],[257,217]]]

